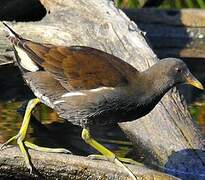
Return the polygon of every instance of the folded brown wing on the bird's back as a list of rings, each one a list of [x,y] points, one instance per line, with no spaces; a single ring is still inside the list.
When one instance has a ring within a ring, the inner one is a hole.
[[[89,47],[43,46],[29,41],[26,47],[33,52],[31,58],[69,90],[125,85],[138,72],[121,59]]]

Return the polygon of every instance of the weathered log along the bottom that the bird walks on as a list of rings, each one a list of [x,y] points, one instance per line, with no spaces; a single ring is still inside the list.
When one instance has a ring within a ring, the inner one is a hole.
[[[122,168],[104,160],[67,154],[42,153],[29,150],[36,172],[30,174],[18,148],[12,147],[0,153],[1,179],[130,179]],[[151,170],[145,166],[127,165],[140,179],[177,178]],[[108,168],[109,167],[109,168]],[[38,178],[37,178],[38,177]]]

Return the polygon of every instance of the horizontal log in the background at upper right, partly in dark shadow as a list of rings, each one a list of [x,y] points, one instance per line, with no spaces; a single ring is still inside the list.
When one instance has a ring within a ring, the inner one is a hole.
[[[26,8],[29,9],[28,4]],[[9,9],[11,10],[12,8]],[[205,57],[205,12],[203,10],[153,8],[123,9],[123,11],[146,33],[154,52],[159,57]],[[27,16],[29,16],[28,13]],[[11,62],[10,59],[0,57],[0,65]]]

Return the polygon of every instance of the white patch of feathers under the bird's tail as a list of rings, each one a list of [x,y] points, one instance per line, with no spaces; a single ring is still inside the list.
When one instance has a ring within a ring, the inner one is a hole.
[[[20,58],[20,64],[23,68],[31,72],[39,70],[38,66],[31,60],[31,58],[25,53],[25,51],[16,46],[15,49],[18,53],[18,56]]]

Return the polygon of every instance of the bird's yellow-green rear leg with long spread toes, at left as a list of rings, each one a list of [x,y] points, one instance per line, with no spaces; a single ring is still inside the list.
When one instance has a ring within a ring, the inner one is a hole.
[[[32,110],[35,108],[35,106],[40,103],[39,99],[32,99],[28,102],[28,105],[26,107],[26,112],[23,118],[23,123],[21,125],[20,131],[19,133],[10,138],[7,142],[5,142],[0,149],[3,149],[3,147],[7,146],[10,142],[12,142],[13,140],[17,140],[17,144],[19,146],[19,149],[21,151],[21,153],[23,154],[23,157],[25,159],[26,162],[26,166],[28,167],[28,169],[30,170],[30,173],[32,172],[32,166],[31,166],[31,162],[28,156],[28,152],[26,150],[25,147],[27,148],[31,148],[37,151],[43,151],[43,152],[55,152],[55,153],[71,153],[70,151],[63,149],[63,148],[45,148],[45,147],[40,147],[37,146],[35,144],[32,144],[28,141],[25,141],[25,137],[26,137],[26,133],[28,130],[28,125],[30,122],[30,118],[31,118],[31,113]]]

